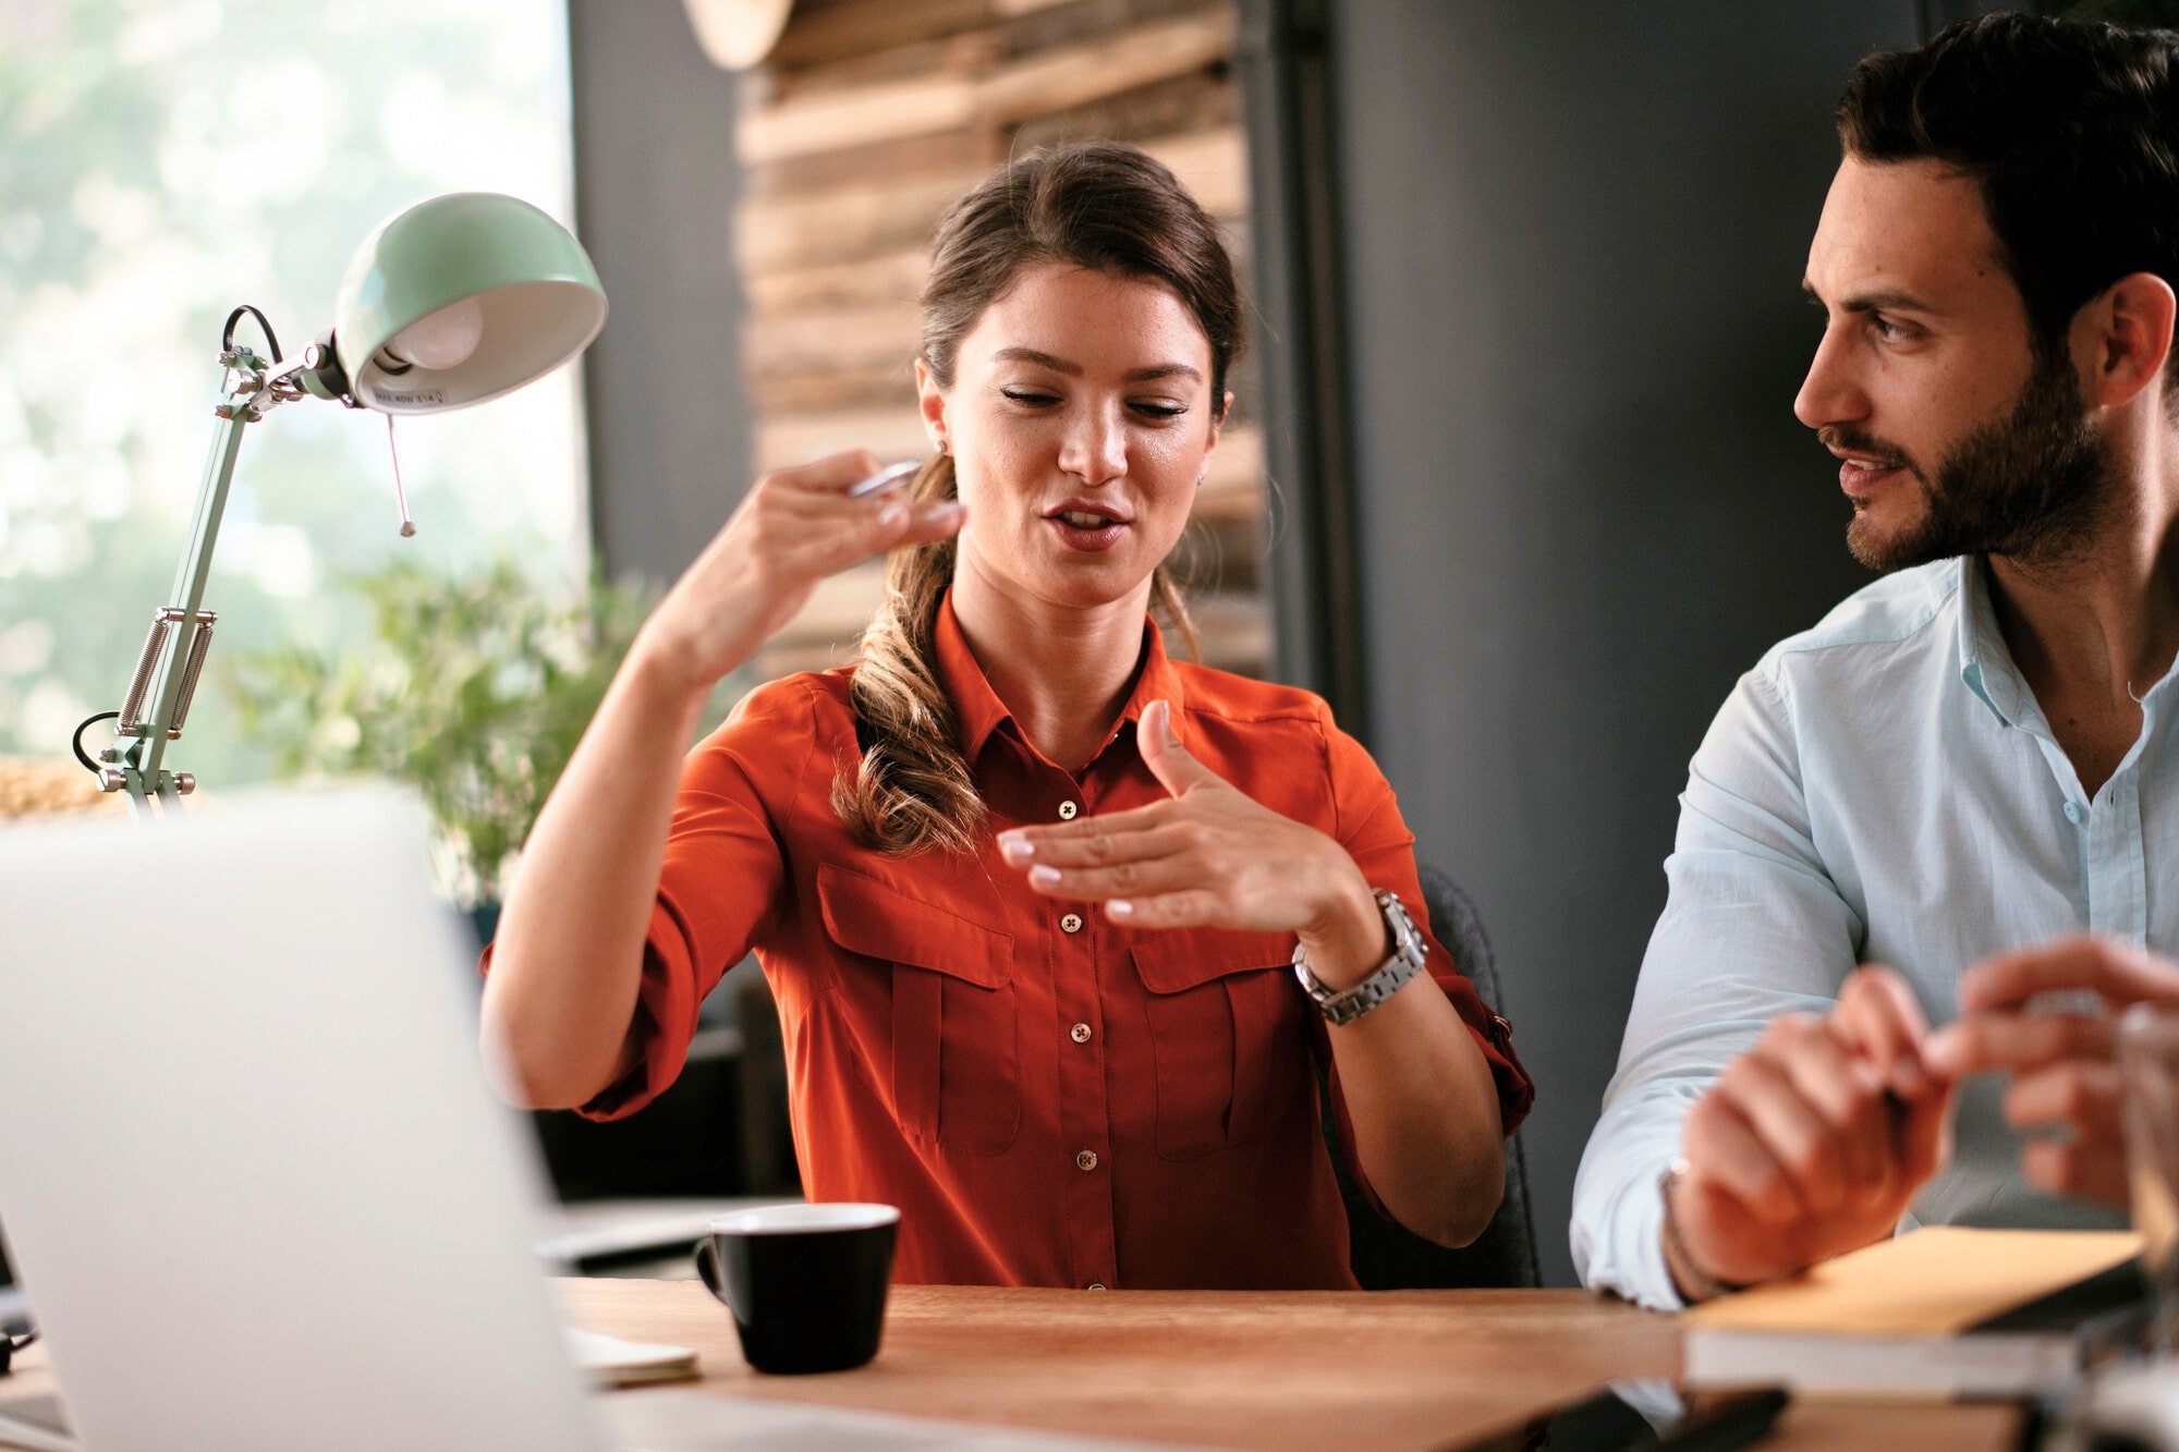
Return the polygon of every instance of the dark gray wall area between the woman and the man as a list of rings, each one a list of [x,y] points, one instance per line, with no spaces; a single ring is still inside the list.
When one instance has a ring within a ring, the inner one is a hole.
[[[1565,1284],[1687,759],[1867,580],[1798,283],[1830,107],[1915,0],[1336,13],[1371,735],[1495,940]]]

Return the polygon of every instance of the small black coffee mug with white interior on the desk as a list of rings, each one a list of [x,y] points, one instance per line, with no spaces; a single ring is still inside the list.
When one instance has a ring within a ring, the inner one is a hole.
[[[898,1234],[893,1206],[760,1206],[715,1219],[695,1269],[752,1367],[845,1371],[878,1354]]]

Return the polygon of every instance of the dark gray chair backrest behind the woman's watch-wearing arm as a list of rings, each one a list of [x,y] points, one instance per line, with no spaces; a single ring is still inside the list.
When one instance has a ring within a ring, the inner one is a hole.
[[[1497,959],[1490,953],[1490,937],[1484,935],[1475,903],[1436,868],[1421,866],[1421,879],[1429,931],[1475,983],[1482,1001],[1493,1012],[1501,1012]],[[1329,1114],[1325,1118],[1325,1136],[1334,1138]],[[1334,1155],[1334,1164],[1338,1164],[1338,1155]],[[1521,1151],[1519,1134],[1506,1140],[1506,1197],[1473,1245],[1447,1249],[1405,1225],[1381,1219],[1368,1208],[1344,1169],[1340,1169],[1340,1195],[1347,1199],[1349,1258],[1364,1291],[1543,1284],[1543,1267],[1536,1260],[1536,1225],[1527,1199],[1527,1155]]]

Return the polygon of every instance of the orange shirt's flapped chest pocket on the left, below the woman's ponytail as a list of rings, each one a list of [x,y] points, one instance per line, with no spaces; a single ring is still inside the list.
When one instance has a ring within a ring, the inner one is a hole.
[[[1022,1127],[1013,937],[832,863],[817,868],[817,905],[839,948],[891,970],[902,1134],[1002,1153]]]

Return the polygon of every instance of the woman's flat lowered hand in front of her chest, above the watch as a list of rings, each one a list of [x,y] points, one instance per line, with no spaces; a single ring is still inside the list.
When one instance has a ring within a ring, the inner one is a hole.
[[[1170,800],[1002,833],[1000,855],[1033,890],[1103,903],[1129,927],[1299,933],[1334,988],[1386,957],[1384,918],[1347,848],[1190,757],[1166,702],[1144,706],[1135,737]]]

